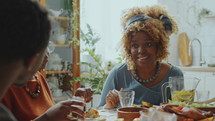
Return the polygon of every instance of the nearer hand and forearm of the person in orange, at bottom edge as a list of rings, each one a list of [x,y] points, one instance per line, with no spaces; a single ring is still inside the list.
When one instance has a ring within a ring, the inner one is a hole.
[[[57,103],[33,121],[71,121],[68,118],[71,113],[74,113],[73,116],[77,118],[84,119],[83,106],[85,106],[83,99],[74,97],[74,99]]]

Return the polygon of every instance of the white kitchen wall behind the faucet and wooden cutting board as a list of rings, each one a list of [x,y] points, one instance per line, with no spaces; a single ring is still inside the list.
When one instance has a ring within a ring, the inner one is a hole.
[[[202,53],[207,66],[211,57],[215,56],[215,18],[202,18],[199,13],[203,8],[207,8],[215,14],[214,0],[158,0],[159,4],[165,5],[179,26],[179,33],[171,37],[169,62],[175,65],[182,65],[178,56],[177,43],[178,35],[186,32],[189,39],[197,38],[202,43]],[[193,64],[199,65],[200,48],[197,42],[192,44]]]

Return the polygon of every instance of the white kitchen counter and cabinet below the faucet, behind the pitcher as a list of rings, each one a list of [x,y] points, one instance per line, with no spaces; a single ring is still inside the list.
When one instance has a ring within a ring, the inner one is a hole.
[[[183,71],[184,76],[194,76],[200,78],[201,81],[197,86],[196,90],[209,90],[209,98],[215,97],[215,71],[212,72],[211,68],[208,69],[210,72],[205,71],[207,69],[203,69],[203,71]],[[185,80],[186,81],[186,80]]]

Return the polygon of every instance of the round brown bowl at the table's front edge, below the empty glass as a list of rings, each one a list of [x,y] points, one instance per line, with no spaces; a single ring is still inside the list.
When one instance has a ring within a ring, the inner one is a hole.
[[[133,121],[140,117],[140,111],[146,112],[147,109],[143,107],[123,107],[117,109],[117,118],[124,118],[124,121]]]

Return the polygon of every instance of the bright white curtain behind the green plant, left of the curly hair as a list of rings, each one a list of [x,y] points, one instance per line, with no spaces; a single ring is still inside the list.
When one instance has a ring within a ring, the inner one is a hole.
[[[119,56],[117,48],[121,38],[121,13],[134,6],[157,4],[157,0],[81,0],[81,29],[87,31],[86,24],[101,37],[96,45],[96,53],[104,62],[115,61]],[[84,47],[83,43],[81,47]],[[82,54],[81,54],[81,59]]]

